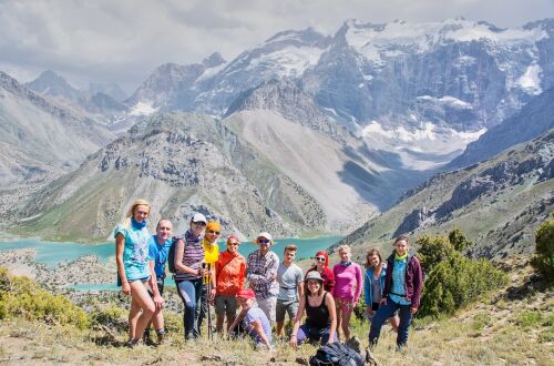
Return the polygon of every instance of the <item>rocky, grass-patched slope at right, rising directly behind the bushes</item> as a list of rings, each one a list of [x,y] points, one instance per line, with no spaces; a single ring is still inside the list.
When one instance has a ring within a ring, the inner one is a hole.
[[[534,230],[554,210],[554,129],[479,164],[438,174],[345,243],[389,248],[401,233],[448,233],[460,227],[476,241],[473,256],[534,252]]]

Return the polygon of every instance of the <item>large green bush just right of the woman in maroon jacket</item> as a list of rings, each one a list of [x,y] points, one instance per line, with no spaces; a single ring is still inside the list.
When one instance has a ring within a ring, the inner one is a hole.
[[[506,283],[506,274],[488,261],[472,261],[454,252],[429,274],[418,314],[421,317],[453,314]]]

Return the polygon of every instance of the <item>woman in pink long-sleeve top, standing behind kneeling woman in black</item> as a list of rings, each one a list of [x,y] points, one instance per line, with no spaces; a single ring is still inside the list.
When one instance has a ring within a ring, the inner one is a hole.
[[[351,255],[350,246],[341,245],[339,247],[340,263],[332,268],[336,281],[332,296],[337,305],[337,333],[342,329],[343,340],[350,339],[348,325],[362,288],[361,267],[350,261]]]

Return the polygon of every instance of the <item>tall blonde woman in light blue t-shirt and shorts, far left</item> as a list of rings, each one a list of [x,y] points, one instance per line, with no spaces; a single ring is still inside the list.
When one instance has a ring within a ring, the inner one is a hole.
[[[164,305],[156,285],[156,274],[150,265],[148,241],[151,234],[146,227],[150,203],[136,200],[131,205],[125,220],[113,233],[115,237],[115,262],[117,264],[117,284],[121,292],[131,295],[129,312],[127,347],[133,347],[142,338],[152,316]],[[148,283],[153,297],[148,295]]]

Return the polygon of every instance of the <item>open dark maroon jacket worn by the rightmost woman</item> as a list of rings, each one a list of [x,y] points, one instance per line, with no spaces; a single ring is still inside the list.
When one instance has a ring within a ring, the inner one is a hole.
[[[384,277],[383,297],[388,297],[392,288],[392,271],[394,270],[394,253],[387,258],[387,276]],[[408,252],[408,263],[406,265],[406,299],[411,302],[412,307],[419,307],[421,291],[423,289],[423,270],[418,257]]]

